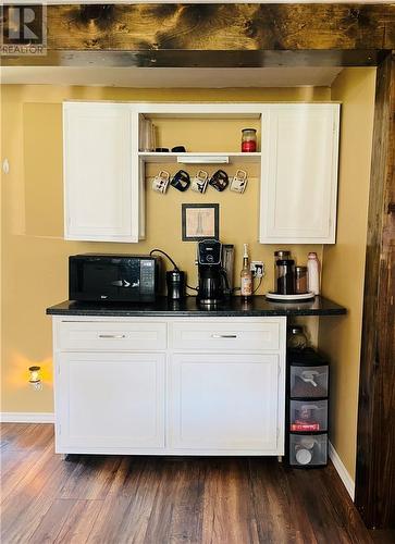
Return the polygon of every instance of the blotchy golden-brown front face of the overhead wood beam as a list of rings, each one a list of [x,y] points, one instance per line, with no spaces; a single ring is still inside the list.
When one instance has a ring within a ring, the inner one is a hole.
[[[119,51],[393,49],[395,4],[49,5],[48,46]]]

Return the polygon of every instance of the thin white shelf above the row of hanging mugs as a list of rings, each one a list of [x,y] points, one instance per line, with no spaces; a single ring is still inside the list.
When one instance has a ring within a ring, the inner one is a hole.
[[[180,164],[233,164],[233,163],[259,163],[261,159],[261,153],[224,153],[224,152],[198,152],[198,153],[157,153],[157,152],[146,152],[139,151],[138,157],[144,160],[144,162],[164,164],[178,162]],[[214,158],[218,157],[219,161],[215,162]],[[196,160],[193,160],[195,159]],[[229,162],[221,162],[221,158],[229,159]],[[185,159],[185,162],[184,162]],[[200,160],[201,159],[201,160]]]

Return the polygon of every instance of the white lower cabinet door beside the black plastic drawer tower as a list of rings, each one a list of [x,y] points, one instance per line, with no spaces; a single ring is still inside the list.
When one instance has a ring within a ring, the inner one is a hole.
[[[169,367],[170,448],[194,454],[283,454],[279,355],[176,354]]]

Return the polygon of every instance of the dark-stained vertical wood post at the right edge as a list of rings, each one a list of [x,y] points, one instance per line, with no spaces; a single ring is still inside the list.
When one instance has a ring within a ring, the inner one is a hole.
[[[356,505],[395,528],[395,57],[378,69],[358,410]]]

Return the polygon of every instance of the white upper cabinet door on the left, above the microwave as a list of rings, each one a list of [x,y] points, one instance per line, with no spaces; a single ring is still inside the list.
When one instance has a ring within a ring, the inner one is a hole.
[[[138,242],[138,114],[127,103],[63,104],[66,239]]]

